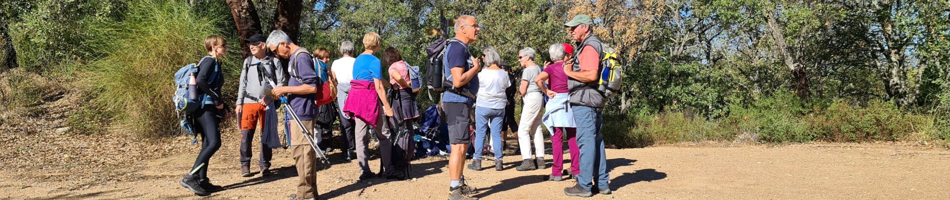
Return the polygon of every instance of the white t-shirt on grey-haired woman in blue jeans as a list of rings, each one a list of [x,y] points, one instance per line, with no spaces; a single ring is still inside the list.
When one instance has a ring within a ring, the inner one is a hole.
[[[508,81],[508,72],[503,69],[483,69],[478,73],[478,95],[476,106],[504,109],[508,100],[504,96],[504,88],[511,86]]]

